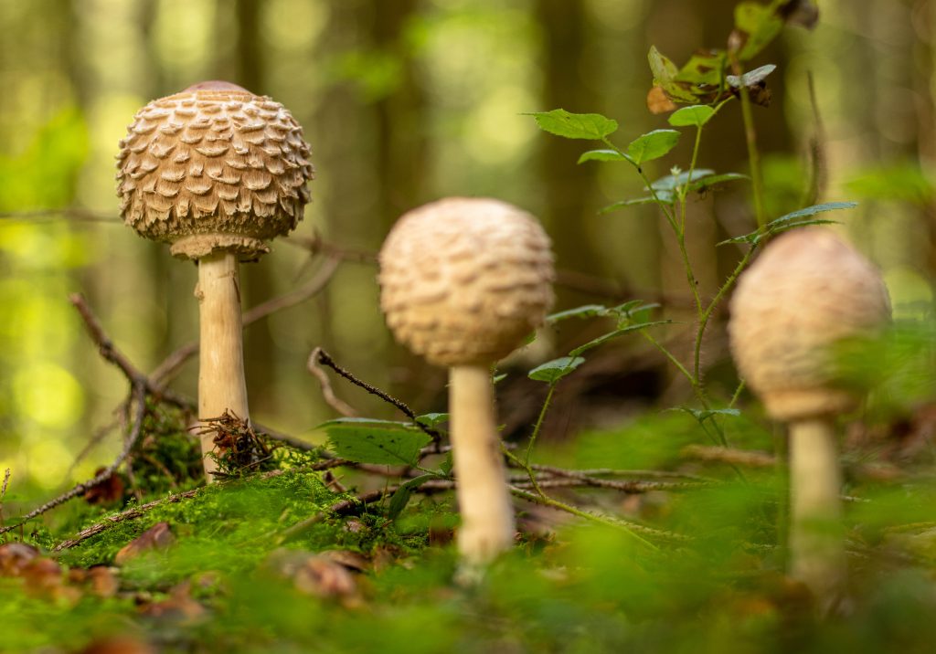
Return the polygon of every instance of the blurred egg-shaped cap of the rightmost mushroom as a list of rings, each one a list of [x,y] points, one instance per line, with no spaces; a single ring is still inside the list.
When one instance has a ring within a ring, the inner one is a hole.
[[[790,421],[856,407],[830,348],[889,318],[880,272],[828,229],[808,227],[771,241],[741,275],[728,333],[741,376],[771,417]]]

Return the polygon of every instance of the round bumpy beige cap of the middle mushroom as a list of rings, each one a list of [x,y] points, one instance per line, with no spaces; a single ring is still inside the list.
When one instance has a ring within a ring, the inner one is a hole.
[[[552,306],[549,248],[532,215],[499,200],[450,197],[409,211],[379,255],[387,324],[438,366],[503,358]]]

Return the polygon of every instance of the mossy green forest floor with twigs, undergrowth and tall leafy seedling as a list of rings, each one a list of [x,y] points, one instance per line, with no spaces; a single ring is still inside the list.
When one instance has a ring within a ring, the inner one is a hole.
[[[771,180],[758,160],[753,106],[768,102],[774,66],[746,68],[784,26],[817,20],[810,2],[742,2],[724,50],[700,51],[680,67],[652,48],[648,106],[668,113],[671,128],[626,144],[626,130],[599,114],[531,114],[551,135],[593,143],[578,164],[633,168],[644,194],[603,212],[655,207],[680,253],[694,312],[676,321],[634,299],[548,317],[550,328],[573,320],[608,328],[529,371],[546,385],[546,400],[529,437],[504,448],[518,542],[483,573],[460,575],[451,545],[458,517],[446,414],[417,415],[316,350],[316,366],[364,385],[408,419],[338,418],[322,426],[328,443],[310,447],[220,416],[210,429],[227,450],[217,460],[219,483],[206,487],[186,429],[192,402],[139,374],[76,298],[102,354],[130,382],[126,446],[94,480],[31,512],[20,509],[44,499],[17,495],[3,480],[0,651],[932,651],[931,445],[899,468],[873,449],[848,450],[849,586],[840,606],[821,613],[784,572],[782,439],[754,402],[744,406],[743,383],[712,387],[702,362],[712,319],[759,249],[856,204],[817,202],[807,188],[809,201],[774,216],[765,200]],[[742,109],[748,172],[698,167],[707,125],[732,102]],[[693,139],[689,160],[652,180],[646,164],[680,138]],[[884,186],[898,188],[898,199],[918,182],[888,174]],[[877,180],[871,173],[852,188],[873,197]],[[728,184],[750,184],[752,230],[719,244],[738,258],[704,297],[685,242],[687,205]],[[690,335],[688,357],[668,347],[674,330]],[[842,374],[873,388],[863,429],[890,429],[932,398],[934,337],[927,317],[898,321],[860,352],[839,353]],[[563,380],[619,339],[658,351],[692,401],[586,430],[563,448],[537,443]]]

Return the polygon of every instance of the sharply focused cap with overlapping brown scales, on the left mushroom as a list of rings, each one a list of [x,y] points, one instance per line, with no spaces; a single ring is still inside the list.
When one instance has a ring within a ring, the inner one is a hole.
[[[117,155],[121,215],[172,254],[269,251],[309,201],[309,144],[283,105],[224,81],[139,109]]]

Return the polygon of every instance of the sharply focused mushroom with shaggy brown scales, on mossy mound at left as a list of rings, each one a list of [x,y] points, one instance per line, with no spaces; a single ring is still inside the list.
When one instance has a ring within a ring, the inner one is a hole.
[[[196,259],[201,325],[198,417],[249,420],[239,261],[287,234],[309,201],[309,145],[283,105],[224,81],[190,86],[134,116],[117,156],[121,215],[147,239]],[[202,452],[212,451],[205,434]],[[205,458],[211,480],[215,469]]]

